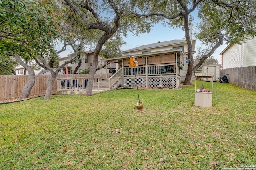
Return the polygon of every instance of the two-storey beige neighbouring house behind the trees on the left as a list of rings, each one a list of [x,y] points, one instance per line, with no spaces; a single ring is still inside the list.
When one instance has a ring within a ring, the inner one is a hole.
[[[82,72],[82,70],[84,69],[88,69],[92,66],[93,63],[93,55],[94,55],[94,50],[92,51],[83,51],[83,55],[82,55],[82,59],[81,59],[81,66],[78,69],[78,72],[76,72],[76,74],[79,74],[80,72]],[[69,54],[66,57],[62,57],[59,59],[59,65],[62,65],[64,62],[69,61],[70,59],[72,59],[72,57],[74,57],[74,53]],[[98,57],[98,68],[100,68],[99,70],[96,71],[96,74],[98,73],[109,73],[110,70],[116,70],[116,68],[118,68],[118,64],[116,63],[110,63],[107,66],[104,67],[104,62],[101,61],[103,58],[102,57]],[[74,74],[74,70],[76,69],[78,65],[78,60],[67,64],[67,68],[68,68],[68,74]],[[64,74],[66,74],[66,69],[63,68],[63,72]]]

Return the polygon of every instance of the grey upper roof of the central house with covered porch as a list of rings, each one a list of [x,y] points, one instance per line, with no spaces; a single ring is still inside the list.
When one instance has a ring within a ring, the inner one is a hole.
[[[128,51],[149,49],[149,48],[154,48],[154,47],[162,47],[162,46],[166,46],[166,45],[180,44],[180,43],[186,43],[186,40],[184,40],[184,39],[174,39],[174,40],[170,40],[170,41],[164,41],[164,42],[159,42],[159,43],[154,43],[154,44],[142,45],[142,46],[139,46],[139,47],[135,47],[133,49],[122,51],[122,53],[125,53],[125,52],[128,52]]]

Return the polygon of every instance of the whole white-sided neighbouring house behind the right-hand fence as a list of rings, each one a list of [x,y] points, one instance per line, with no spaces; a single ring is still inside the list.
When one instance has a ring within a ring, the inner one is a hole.
[[[221,53],[222,69],[256,66],[256,38],[241,45],[228,45]]]

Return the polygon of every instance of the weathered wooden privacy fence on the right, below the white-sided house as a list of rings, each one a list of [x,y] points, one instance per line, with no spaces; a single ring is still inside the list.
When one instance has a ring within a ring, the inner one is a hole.
[[[252,67],[237,67],[220,70],[220,76],[228,74],[228,82],[240,86],[256,90],[256,66]]]

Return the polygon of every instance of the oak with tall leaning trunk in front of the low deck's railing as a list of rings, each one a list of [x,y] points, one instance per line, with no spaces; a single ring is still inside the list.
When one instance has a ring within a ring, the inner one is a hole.
[[[98,65],[98,55],[104,43],[118,31],[121,25],[122,33],[126,35],[128,28],[130,28],[131,31],[149,31],[150,23],[145,25],[138,24],[142,23],[142,20],[126,15],[124,11],[128,8],[125,0],[84,0],[81,3],[80,1],[71,2],[71,0],[64,0],[63,4],[69,6],[71,11],[74,12],[74,15],[81,18],[82,25],[86,26],[88,29],[95,29],[101,32],[101,36],[94,50],[93,63],[88,77],[88,86],[86,88],[86,96],[91,96],[93,95],[92,85]]]

